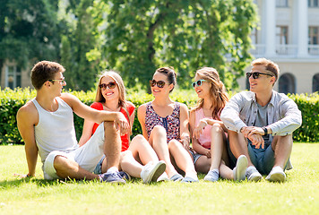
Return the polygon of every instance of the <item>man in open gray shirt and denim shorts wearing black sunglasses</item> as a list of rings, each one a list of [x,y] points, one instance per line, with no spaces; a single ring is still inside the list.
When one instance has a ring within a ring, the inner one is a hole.
[[[301,125],[301,112],[286,95],[273,90],[280,70],[265,58],[253,61],[246,73],[250,91],[237,93],[221,112],[228,128],[230,150],[248,159],[248,181],[284,182],[291,168],[292,133]]]

